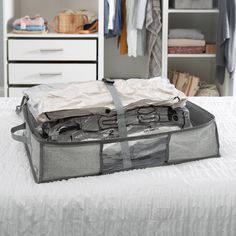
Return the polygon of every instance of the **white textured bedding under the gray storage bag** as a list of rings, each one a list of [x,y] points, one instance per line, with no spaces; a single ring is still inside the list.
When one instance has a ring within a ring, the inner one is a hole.
[[[0,99],[0,236],[235,236],[236,98],[193,98],[216,115],[222,158],[35,184]],[[210,147],[209,147],[210,148]]]

